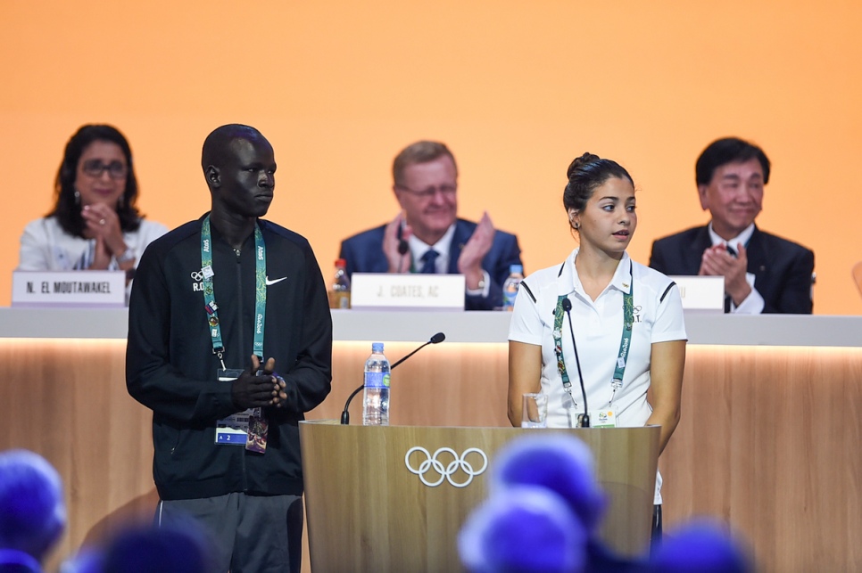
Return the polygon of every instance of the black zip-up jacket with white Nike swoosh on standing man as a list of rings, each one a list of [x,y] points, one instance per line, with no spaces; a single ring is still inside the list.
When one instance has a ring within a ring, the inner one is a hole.
[[[230,382],[218,381],[203,302],[203,217],[153,241],[141,257],[128,307],[128,393],[153,410],[153,479],[165,500],[245,492],[301,495],[298,422],[332,381],[332,318],[326,285],[302,236],[260,220],[266,244],[263,354],[287,384],[269,419],[266,453],[217,446],[216,421],[236,413]],[[212,229],[212,277],[228,368],[250,364],[254,328],[254,237],[240,254]]]

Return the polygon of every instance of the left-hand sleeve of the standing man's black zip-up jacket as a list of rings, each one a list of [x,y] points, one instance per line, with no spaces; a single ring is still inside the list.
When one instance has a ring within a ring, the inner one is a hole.
[[[126,387],[138,402],[176,422],[210,424],[236,413],[231,385],[187,377],[171,363],[171,293],[162,250],[145,250],[137,266],[128,305]],[[193,345],[194,329],[178,333],[178,347]],[[201,354],[189,352],[187,354]],[[182,356],[182,355],[179,355]],[[203,356],[206,356],[204,354]]]

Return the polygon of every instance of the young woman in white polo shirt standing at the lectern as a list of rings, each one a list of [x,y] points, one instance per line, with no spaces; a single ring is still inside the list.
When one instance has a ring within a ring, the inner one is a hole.
[[[679,291],[626,253],[637,227],[634,182],[616,161],[591,153],[572,161],[563,205],[580,246],[521,282],[509,332],[510,422],[521,423],[522,395],[541,391],[549,427],[578,427],[584,413],[593,427],[656,424],[664,450],[683,385]]]

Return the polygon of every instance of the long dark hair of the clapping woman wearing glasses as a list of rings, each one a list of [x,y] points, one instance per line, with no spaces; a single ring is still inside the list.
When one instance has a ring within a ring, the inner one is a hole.
[[[95,141],[116,143],[126,156],[128,175],[126,189],[122,201],[117,206],[117,216],[120,217],[120,228],[124,232],[137,231],[141,225],[141,214],[135,205],[137,201],[137,177],[135,165],[132,163],[132,151],[126,138],[116,127],[104,125],[87,125],[79,128],[75,135],[66,143],[62,155],[62,163],[57,171],[54,184],[54,209],[47,217],[57,217],[62,230],[75,237],[84,236],[84,218],[81,217],[80,201],[75,199],[75,177],[78,176],[78,161],[87,145]]]

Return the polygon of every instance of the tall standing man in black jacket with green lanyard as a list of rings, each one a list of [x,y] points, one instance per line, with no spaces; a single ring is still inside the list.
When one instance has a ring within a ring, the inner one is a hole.
[[[272,147],[228,125],[203,143],[210,213],[150,244],[129,301],[128,392],[153,410],[160,523],[215,540],[218,570],[299,571],[298,424],[327,396],[332,321],[303,237],[259,217]]]

